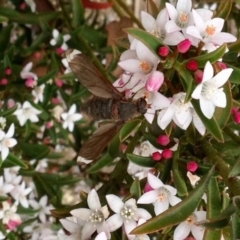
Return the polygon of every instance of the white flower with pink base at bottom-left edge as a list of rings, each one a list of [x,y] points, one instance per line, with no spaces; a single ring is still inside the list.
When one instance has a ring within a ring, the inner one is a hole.
[[[2,219],[3,224],[9,224],[9,227],[13,227],[13,225],[18,226],[21,223],[21,217],[16,213],[17,206],[18,202],[14,202],[12,205],[7,201],[2,202],[2,209],[0,209],[0,219]]]

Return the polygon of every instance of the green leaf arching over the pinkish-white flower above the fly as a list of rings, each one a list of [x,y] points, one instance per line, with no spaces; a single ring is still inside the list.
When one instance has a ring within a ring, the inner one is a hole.
[[[145,30],[141,30],[138,28],[126,28],[124,29],[124,31],[133,36],[134,38],[138,39],[139,41],[141,41],[152,51],[152,53],[158,56],[157,50],[160,46],[162,46],[162,43],[158,38],[146,32]]]

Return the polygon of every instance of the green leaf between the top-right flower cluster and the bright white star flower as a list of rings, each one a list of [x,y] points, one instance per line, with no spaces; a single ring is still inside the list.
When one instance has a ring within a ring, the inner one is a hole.
[[[203,68],[206,65],[206,62],[209,61],[211,63],[214,63],[219,60],[219,58],[222,58],[226,51],[226,44],[223,44],[219,48],[217,48],[215,51],[206,53],[204,55],[199,55],[197,57],[191,58],[191,60],[195,60],[198,63],[199,68]],[[188,60],[185,60],[182,65],[185,66],[187,64]]]

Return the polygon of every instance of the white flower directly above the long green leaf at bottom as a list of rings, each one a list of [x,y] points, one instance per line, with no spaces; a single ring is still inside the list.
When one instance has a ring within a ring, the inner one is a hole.
[[[169,204],[174,206],[181,201],[176,197],[177,190],[170,185],[164,185],[162,181],[153,174],[148,173],[148,183],[154,189],[144,193],[137,201],[140,204],[153,203],[156,215],[169,208]]]

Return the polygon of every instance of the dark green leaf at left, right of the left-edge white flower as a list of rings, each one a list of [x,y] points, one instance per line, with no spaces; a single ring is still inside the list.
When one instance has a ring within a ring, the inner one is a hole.
[[[30,159],[43,159],[50,152],[50,149],[43,144],[26,143],[23,141],[19,141],[18,144],[21,147],[23,153]]]

